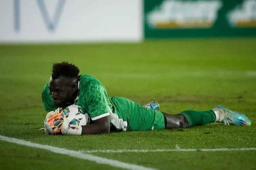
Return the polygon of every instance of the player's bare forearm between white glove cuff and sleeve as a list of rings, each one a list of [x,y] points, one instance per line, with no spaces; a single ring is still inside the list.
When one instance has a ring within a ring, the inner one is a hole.
[[[82,126],[83,134],[108,134],[110,132],[110,123],[107,124],[88,124]]]

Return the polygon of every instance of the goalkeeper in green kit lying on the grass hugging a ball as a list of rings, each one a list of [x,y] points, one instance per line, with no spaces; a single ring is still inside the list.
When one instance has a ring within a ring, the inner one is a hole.
[[[84,126],[69,125],[64,116],[60,130],[64,135],[189,128],[214,121],[251,125],[244,114],[223,106],[216,106],[208,111],[186,110],[171,115],[142,107],[126,98],[108,97],[106,89],[97,79],[86,74],[79,75],[79,68],[68,62],[53,64],[51,78],[42,92],[42,100],[46,112],[76,104],[90,115],[93,124]],[[58,114],[58,110],[55,113]]]

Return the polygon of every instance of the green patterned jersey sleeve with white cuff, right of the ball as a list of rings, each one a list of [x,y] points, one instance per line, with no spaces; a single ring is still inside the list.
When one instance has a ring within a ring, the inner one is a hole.
[[[98,81],[89,84],[89,95],[87,98],[88,113],[91,120],[97,120],[110,115],[108,96],[104,86]]]

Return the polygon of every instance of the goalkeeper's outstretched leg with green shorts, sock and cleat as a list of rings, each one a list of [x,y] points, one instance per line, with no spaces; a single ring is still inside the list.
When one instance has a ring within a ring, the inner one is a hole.
[[[126,98],[115,97],[125,108],[128,117],[127,131],[147,131],[157,129],[189,128],[216,122],[224,124],[251,125],[251,121],[238,112],[223,106],[209,111],[186,110],[172,115],[140,106]]]

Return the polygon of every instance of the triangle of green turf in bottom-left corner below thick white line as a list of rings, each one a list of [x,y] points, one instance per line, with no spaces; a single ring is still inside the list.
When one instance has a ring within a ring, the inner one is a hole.
[[[102,165],[67,155],[54,154],[13,143],[0,141],[0,169],[100,169]],[[76,164],[74,164],[74,161]],[[111,166],[106,168],[117,170]]]

